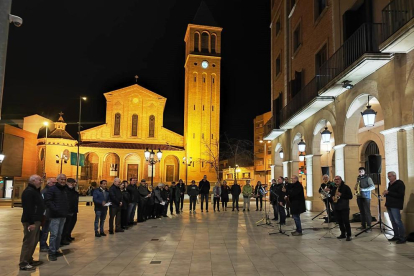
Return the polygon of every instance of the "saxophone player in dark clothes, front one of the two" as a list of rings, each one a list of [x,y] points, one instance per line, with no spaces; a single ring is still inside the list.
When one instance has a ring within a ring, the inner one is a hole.
[[[334,181],[335,187],[332,189],[328,187],[328,191],[331,192],[336,223],[339,224],[339,229],[341,229],[341,235],[338,239],[346,238],[347,241],[350,241],[352,233],[349,222],[349,200],[352,199],[352,192],[339,175],[335,176]]]

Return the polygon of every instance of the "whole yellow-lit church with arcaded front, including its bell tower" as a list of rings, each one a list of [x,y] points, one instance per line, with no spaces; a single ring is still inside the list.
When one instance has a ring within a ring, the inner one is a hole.
[[[81,131],[79,185],[115,177],[171,183],[210,181],[218,176],[221,31],[208,8],[200,7],[185,34],[184,134],[163,125],[167,99],[139,85],[104,94],[105,124]],[[61,116],[55,130],[65,131]],[[52,134],[52,133],[51,133]],[[66,133],[67,134],[67,133]],[[69,134],[39,138],[37,172],[76,178],[77,141]],[[58,139],[58,141],[56,140]],[[145,150],[162,151],[153,167]],[[74,160],[75,159],[75,160]]]

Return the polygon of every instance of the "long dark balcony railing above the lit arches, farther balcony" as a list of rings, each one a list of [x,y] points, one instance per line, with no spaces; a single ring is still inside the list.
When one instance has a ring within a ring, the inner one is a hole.
[[[378,53],[381,24],[363,24],[324,63],[313,78],[280,111],[285,123],[319,96],[319,91],[366,53]]]

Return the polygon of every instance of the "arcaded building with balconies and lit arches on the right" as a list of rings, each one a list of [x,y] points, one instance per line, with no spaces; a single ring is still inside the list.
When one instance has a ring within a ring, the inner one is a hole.
[[[272,173],[302,173],[308,208],[318,211],[323,174],[353,187],[364,166],[382,193],[395,171],[413,231],[414,1],[272,0],[270,8],[272,118],[263,139],[272,144]],[[363,121],[367,106],[373,124]]]

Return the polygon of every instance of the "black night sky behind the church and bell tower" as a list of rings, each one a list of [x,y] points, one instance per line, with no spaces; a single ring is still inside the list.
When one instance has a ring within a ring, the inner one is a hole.
[[[103,93],[135,83],[167,98],[164,127],[183,134],[184,35],[201,0],[13,1],[4,119],[60,111],[76,137],[105,121]],[[253,139],[253,118],[270,111],[269,0],[206,0],[223,27],[221,133]]]

